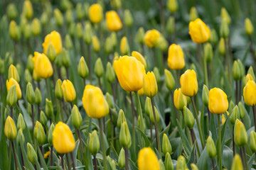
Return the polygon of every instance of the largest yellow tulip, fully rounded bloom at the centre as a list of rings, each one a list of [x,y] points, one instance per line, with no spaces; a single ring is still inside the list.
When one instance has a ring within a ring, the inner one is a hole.
[[[135,57],[124,55],[114,61],[114,72],[125,91],[138,91],[143,86],[144,65]]]

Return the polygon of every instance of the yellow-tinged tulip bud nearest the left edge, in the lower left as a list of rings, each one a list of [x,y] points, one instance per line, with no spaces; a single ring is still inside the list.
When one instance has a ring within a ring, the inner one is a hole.
[[[16,125],[14,123],[14,120],[10,116],[6,118],[6,122],[4,124],[4,134],[6,135],[6,138],[10,141],[14,141],[16,138]]]

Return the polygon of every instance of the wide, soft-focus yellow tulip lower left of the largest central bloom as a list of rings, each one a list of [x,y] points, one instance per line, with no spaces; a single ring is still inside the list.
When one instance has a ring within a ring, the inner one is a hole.
[[[90,118],[103,118],[110,111],[100,88],[90,84],[85,86],[82,95],[82,105]]]

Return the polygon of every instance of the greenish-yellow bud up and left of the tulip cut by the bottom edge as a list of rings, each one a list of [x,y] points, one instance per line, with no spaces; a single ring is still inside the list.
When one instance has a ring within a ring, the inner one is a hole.
[[[132,145],[131,134],[126,122],[123,122],[119,134],[120,145],[126,149],[129,149]]]

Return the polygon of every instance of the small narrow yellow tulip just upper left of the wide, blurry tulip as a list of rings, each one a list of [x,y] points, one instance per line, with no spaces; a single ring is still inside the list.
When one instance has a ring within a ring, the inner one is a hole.
[[[61,85],[61,89],[63,89],[63,96],[65,102],[73,102],[75,100],[75,87],[73,86],[71,81],[69,81],[68,79],[64,80],[63,84]]]

